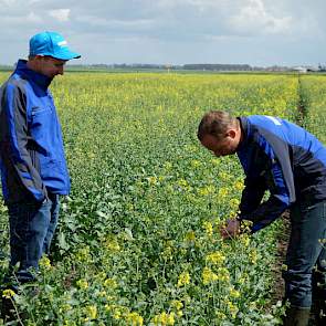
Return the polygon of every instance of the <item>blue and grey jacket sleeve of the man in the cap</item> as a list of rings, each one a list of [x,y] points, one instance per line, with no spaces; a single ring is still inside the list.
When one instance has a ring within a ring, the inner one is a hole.
[[[3,90],[1,115],[1,125],[4,127],[1,132],[1,150],[4,147],[6,162],[11,165],[10,170],[14,171],[17,181],[29,197],[32,194],[36,201],[43,201],[48,196],[46,189],[28,150],[27,99],[18,85],[8,83]]]

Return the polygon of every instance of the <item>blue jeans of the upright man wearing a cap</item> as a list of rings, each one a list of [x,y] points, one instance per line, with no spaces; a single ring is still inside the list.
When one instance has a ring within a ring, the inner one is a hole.
[[[10,225],[10,270],[19,264],[19,283],[32,281],[31,267],[38,270],[42,254],[50,253],[57,224],[59,196],[49,193],[43,203],[19,202],[8,206]]]

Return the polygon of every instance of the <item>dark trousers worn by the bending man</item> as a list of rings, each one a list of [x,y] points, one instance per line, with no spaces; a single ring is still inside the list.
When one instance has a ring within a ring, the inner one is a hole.
[[[283,273],[285,298],[292,306],[311,307],[315,275],[322,282],[318,282],[319,299],[320,295],[323,301],[326,299],[326,243],[323,244],[326,239],[326,201],[312,206],[294,204],[291,209],[291,228],[287,271]]]

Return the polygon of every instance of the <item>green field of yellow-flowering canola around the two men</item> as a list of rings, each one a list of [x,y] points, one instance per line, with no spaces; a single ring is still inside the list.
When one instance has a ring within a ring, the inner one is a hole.
[[[62,200],[51,263],[42,259],[39,283],[15,295],[25,325],[277,325],[271,292],[280,222],[221,240],[243,173],[235,157],[217,159],[200,146],[197,126],[209,109],[296,120],[298,90],[317,94],[314,87],[313,77],[294,75],[57,77],[51,91],[72,193]],[[0,227],[3,275],[3,204]]]

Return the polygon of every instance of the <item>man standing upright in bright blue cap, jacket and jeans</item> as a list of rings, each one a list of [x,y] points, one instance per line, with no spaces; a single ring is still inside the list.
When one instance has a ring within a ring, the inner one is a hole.
[[[10,223],[10,274],[33,280],[49,253],[59,196],[70,192],[61,126],[49,85],[69,60],[81,57],[64,38],[42,32],[30,40],[28,61],[0,88],[0,168]]]

